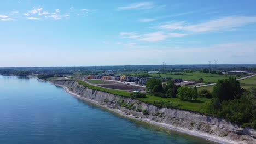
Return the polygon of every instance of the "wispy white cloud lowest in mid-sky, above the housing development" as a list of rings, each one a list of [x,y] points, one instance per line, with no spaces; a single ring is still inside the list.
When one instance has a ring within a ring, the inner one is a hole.
[[[167,38],[184,37],[187,34],[166,33],[166,32],[158,31],[158,32],[153,32],[148,34],[138,34],[136,32],[121,32],[120,35],[122,38],[135,39],[138,41],[157,42],[157,41],[164,41]]]

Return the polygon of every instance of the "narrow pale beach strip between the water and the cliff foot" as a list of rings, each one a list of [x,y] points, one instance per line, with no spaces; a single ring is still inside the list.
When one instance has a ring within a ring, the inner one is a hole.
[[[44,80],[41,80],[41,81],[44,81]],[[50,81],[46,81],[46,82],[50,82]],[[75,98],[79,98],[79,99],[88,101],[89,103],[96,104],[98,106],[103,107],[104,109],[107,109],[109,111],[115,112],[115,113],[117,113],[117,114],[119,114],[121,116],[127,117],[127,118],[135,119],[135,120],[141,121],[141,122],[146,122],[148,124],[156,125],[158,127],[163,127],[163,128],[168,129],[168,130],[178,131],[179,133],[184,133],[184,134],[200,137],[201,139],[205,139],[205,140],[216,142],[216,143],[237,143],[236,141],[230,141],[230,140],[222,139],[221,137],[211,136],[209,134],[204,134],[204,133],[201,133],[199,131],[187,130],[187,129],[183,129],[183,128],[177,128],[177,127],[173,127],[172,125],[155,122],[155,121],[152,121],[150,119],[138,118],[137,116],[127,115],[126,113],[124,113],[121,110],[112,109],[112,108],[108,107],[107,105],[101,105],[99,102],[97,102],[95,100],[91,100],[91,99],[88,99],[88,98],[81,97],[80,95],[71,92],[69,90],[69,88],[66,87],[66,86],[54,84],[52,82],[50,82],[50,83],[55,85],[55,86],[62,87],[65,90],[66,93],[72,95]]]

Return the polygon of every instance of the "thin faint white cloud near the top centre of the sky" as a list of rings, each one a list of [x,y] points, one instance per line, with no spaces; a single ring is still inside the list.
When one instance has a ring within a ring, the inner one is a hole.
[[[126,5],[124,7],[118,7],[117,10],[151,9],[154,7],[155,5],[152,2],[141,2],[141,3],[133,3],[130,5]]]

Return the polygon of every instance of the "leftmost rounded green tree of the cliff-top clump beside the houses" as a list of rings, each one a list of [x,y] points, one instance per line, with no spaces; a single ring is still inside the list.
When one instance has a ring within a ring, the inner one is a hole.
[[[160,79],[151,78],[146,82],[145,86],[150,93],[162,92],[162,80]]]

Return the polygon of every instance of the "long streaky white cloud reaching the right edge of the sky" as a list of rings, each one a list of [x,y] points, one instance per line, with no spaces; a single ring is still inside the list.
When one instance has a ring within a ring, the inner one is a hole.
[[[245,26],[256,23],[256,17],[250,16],[229,16],[218,19],[209,20],[195,25],[186,25],[184,22],[171,23],[170,25],[159,26],[161,29],[180,29],[190,32],[210,32],[228,30],[231,28]]]

